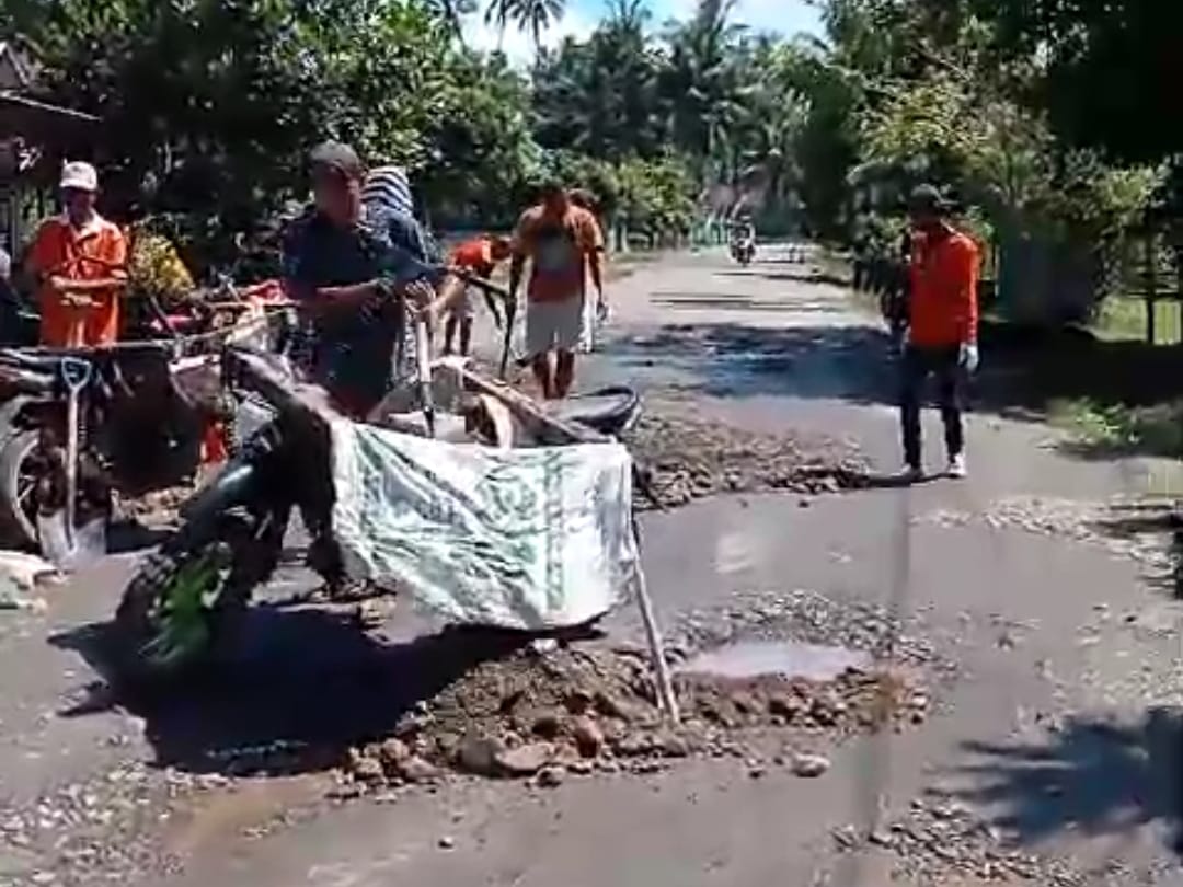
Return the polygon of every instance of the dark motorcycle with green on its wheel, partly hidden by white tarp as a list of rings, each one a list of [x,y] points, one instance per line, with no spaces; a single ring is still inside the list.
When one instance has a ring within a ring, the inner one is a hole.
[[[278,566],[293,511],[311,537],[308,565],[330,594],[347,581],[331,527],[327,394],[296,382],[274,355],[230,349],[222,362],[227,382],[273,419],[181,507],[180,529],[128,584],[115,619],[117,667],[136,682],[176,678],[233,648],[252,594]],[[571,399],[556,415],[619,434],[639,410],[638,395],[618,388]]]

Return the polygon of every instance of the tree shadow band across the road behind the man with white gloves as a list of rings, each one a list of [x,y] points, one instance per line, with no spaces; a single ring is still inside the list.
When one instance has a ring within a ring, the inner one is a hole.
[[[822,321],[838,310],[825,297],[786,302],[728,292],[655,292],[653,298],[674,312],[735,310]],[[971,387],[977,410],[1043,420],[1056,401],[1088,399],[1104,408],[1178,397],[1183,349],[1103,342],[1073,329],[1048,332],[991,322],[983,322],[980,339],[982,369]],[[897,364],[888,336],[874,325],[672,323],[647,336],[618,341],[614,352],[626,365],[659,367],[679,376],[681,388],[710,396],[897,402]],[[1087,449],[1071,452],[1080,458],[1095,455]]]

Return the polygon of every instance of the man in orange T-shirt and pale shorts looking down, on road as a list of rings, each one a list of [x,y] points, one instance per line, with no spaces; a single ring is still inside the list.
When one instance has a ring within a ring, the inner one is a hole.
[[[535,377],[548,400],[565,397],[575,378],[575,351],[583,330],[587,276],[603,306],[600,225],[574,206],[556,182],[542,189],[542,202],[526,209],[513,234],[510,293],[517,297],[526,259],[525,345]]]

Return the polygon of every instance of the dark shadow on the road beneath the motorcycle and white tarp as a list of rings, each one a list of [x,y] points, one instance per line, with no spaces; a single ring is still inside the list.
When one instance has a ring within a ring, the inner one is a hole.
[[[245,634],[235,661],[151,695],[118,688],[109,626],[52,637],[108,680],[64,716],[129,710],[144,718],[160,766],[235,776],[310,772],[340,764],[360,742],[389,736],[418,703],[525,642],[521,634],[476,629],[383,642],[351,617],[312,607],[257,607]]]

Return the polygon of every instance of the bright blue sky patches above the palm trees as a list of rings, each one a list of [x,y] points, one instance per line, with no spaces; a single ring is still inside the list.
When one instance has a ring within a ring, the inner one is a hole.
[[[653,18],[661,22],[668,19],[686,19],[693,12],[697,0],[648,0]],[[554,45],[568,34],[586,34],[595,27],[608,7],[608,0],[569,0],[567,15],[547,34],[544,43]],[[775,31],[782,34],[800,32],[820,33],[821,22],[817,11],[806,0],[738,0],[736,20],[761,31]],[[483,48],[502,48],[519,63],[528,61],[534,54],[534,47],[525,34],[512,31],[504,35],[489,27],[481,17],[473,17],[468,22],[468,41]]]

